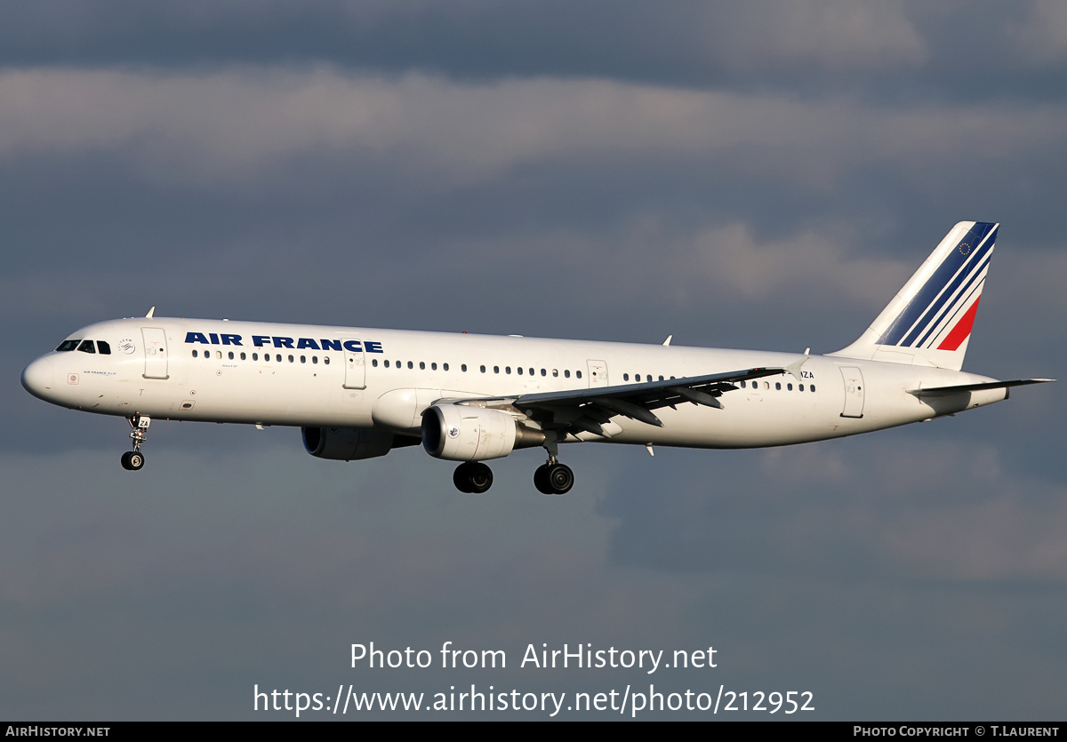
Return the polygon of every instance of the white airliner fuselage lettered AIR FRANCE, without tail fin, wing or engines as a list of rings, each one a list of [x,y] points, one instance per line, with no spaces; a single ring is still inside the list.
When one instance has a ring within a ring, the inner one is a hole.
[[[110,354],[52,352],[31,364],[34,394],[75,409],[171,420],[380,429],[419,435],[440,400],[626,385],[754,367],[790,353],[315,325],[139,318],[90,325],[71,339]],[[920,398],[909,390],[990,382],[930,366],[812,356],[795,377],[744,383],[722,408],[663,407],[663,426],[619,416],[612,435],[698,448],[782,446],[891,428],[989,404],[1003,388]]]

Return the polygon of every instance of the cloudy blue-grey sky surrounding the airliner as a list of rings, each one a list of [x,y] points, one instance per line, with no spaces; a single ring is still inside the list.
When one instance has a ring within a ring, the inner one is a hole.
[[[277,428],[161,422],[131,474],[124,421],[19,373],[150,306],[829,352],[978,220],[1003,226],[965,368],[1055,377],[1065,132],[1053,0],[4,5],[0,716],[651,682],[1062,719],[1063,384],[790,449],[572,447],[547,498],[536,451],[472,497],[420,449],[322,462]],[[508,667],[350,666],[447,641]],[[542,643],[718,666],[520,667]]]

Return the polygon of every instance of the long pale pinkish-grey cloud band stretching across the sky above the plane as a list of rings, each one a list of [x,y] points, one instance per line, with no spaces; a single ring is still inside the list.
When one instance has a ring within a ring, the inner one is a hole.
[[[984,167],[1049,151],[1062,107],[921,104],[698,93],[602,80],[463,84],[407,76],[246,69],[157,75],[35,69],[0,76],[0,155],[131,154],[152,179],[241,187],[297,157],[349,152],[417,173],[423,188],[535,162],[706,159],[747,177],[839,188],[863,166],[922,162],[923,176],[974,151]]]

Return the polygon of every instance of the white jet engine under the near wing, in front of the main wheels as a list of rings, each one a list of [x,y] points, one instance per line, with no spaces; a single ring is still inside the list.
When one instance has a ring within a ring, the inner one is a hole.
[[[543,442],[544,433],[520,425],[498,409],[440,404],[423,413],[423,448],[437,458],[457,462],[500,458],[512,449]]]

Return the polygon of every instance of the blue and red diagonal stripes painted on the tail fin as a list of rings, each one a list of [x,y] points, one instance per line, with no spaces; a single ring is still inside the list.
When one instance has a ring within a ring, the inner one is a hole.
[[[974,223],[890,323],[877,343],[915,349],[958,349],[974,323],[997,231],[996,224]],[[940,343],[935,345],[939,339]]]

